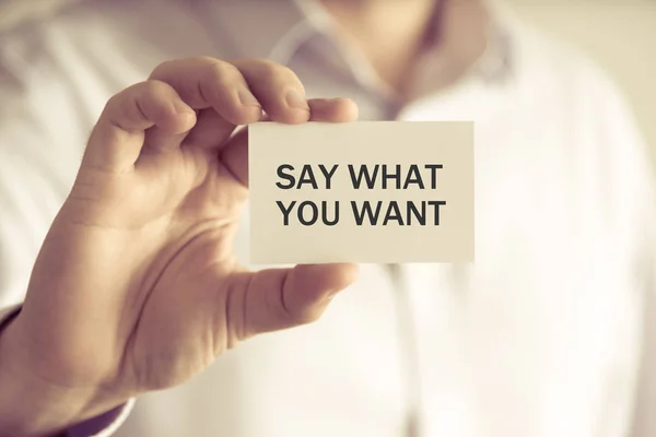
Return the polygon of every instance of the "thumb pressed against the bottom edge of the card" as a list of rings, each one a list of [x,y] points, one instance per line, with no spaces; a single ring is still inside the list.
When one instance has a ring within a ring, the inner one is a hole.
[[[356,264],[298,264],[250,275],[243,296],[241,340],[317,320],[335,294],[355,282]],[[232,299],[234,304],[239,299]],[[233,305],[234,305],[233,304]],[[232,312],[237,308],[231,308]],[[237,312],[239,314],[239,312]],[[231,317],[235,320],[234,317]]]

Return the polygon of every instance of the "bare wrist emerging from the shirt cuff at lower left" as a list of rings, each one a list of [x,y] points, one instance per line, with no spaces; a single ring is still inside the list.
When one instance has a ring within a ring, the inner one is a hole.
[[[95,388],[59,387],[31,371],[19,317],[0,327],[0,429],[16,437],[59,436],[122,403]]]

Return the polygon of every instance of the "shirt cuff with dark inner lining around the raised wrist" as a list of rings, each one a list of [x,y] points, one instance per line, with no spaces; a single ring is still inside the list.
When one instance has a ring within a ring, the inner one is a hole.
[[[0,330],[4,323],[21,311],[21,305],[14,305],[8,308],[0,308]],[[130,399],[121,406],[117,406],[99,416],[72,426],[63,435],[65,437],[109,437],[128,418],[133,406],[134,399]]]

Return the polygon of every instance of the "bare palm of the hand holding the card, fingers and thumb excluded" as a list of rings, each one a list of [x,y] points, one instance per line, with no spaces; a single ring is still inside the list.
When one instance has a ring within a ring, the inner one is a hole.
[[[224,290],[237,269],[231,241],[246,188],[215,153],[184,146],[142,154],[130,173],[98,175],[83,167],[78,180],[98,182],[78,182],[84,189],[73,189],[54,227],[80,237],[60,245],[49,236],[39,258],[66,260],[58,271],[70,272],[74,265],[92,272],[74,291],[87,304],[59,308],[68,322],[52,323],[59,330],[39,330],[34,341],[47,344],[43,352],[68,368],[68,386],[106,383],[115,376],[105,369],[117,365],[122,368],[120,380],[112,383],[130,391],[188,379],[226,347],[229,336],[235,338],[222,322],[227,310]],[[102,260],[102,271],[96,260]],[[50,310],[59,302],[58,292],[70,298],[65,280],[47,277]],[[108,312],[90,318],[90,307]],[[93,338],[81,335],[80,326]],[[77,359],[80,349],[94,351],[95,368]],[[179,357],[189,365],[162,357]],[[58,367],[37,371],[57,380]]]

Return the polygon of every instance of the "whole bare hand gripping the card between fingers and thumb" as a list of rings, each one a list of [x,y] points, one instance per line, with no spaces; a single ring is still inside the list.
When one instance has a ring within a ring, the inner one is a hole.
[[[353,264],[236,261],[248,153],[247,131],[233,133],[262,109],[284,123],[358,113],[307,102],[291,70],[262,60],[165,62],[108,102],[0,338],[0,378],[33,393],[12,404],[3,382],[0,428],[43,435],[179,385],[251,335],[315,320],[354,281]]]

